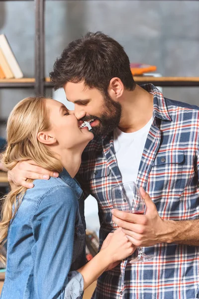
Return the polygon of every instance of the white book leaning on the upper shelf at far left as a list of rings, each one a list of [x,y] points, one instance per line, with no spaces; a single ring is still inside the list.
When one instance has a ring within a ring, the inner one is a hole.
[[[0,49],[8,63],[8,66],[13,74],[13,77],[16,79],[22,78],[23,73],[21,72],[21,69],[16,61],[16,58],[11,50],[11,47],[9,46],[7,38],[4,34],[0,34]],[[1,65],[1,63],[0,63],[0,65]],[[6,74],[5,74],[5,77],[6,77]]]

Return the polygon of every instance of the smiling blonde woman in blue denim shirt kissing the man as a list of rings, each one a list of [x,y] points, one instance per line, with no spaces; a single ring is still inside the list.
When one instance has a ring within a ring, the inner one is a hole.
[[[84,265],[83,194],[73,178],[93,134],[82,123],[61,103],[41,97],[22,100],[8,118],[6,167],[30,159],[60,175],[34,180],[32,189],[16,187],[4,198],[0,244],[7,237],[7,268],[1,299],[82,298],[107,267],[135,250],[118,229]]]

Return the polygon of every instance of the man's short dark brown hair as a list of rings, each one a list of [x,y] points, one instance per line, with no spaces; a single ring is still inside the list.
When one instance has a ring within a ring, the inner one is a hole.
[[[120,78],[126,90],[135,88],[129,64],[128,56],[116,40],[100,31],[88,32],[64,49],[50,78],[55,90],[69,81],[84,81],[89,88],[98,88],[106,95],[113,77]]]

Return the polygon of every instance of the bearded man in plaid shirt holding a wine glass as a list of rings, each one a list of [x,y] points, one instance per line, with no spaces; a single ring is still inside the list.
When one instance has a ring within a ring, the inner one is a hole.
[[[101,32],[71,42],[50,77],[95,134],[77,178],[85,196],[98,200],[100,244],[116,223],[155,255],[104,272],[93,298],[199,298],[199,108],[136,85],[123,47]],[[48,175],[56,173],[23,161],[8,176],[33,187],[26,178]],[[145,215],[112,210],[111,188],[128,181],[147,191]]]

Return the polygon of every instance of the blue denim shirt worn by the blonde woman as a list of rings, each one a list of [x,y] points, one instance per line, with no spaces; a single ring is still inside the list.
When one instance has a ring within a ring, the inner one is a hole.
[[[82,195],[65,169],[58,178],[35,180],[26,191],[8,229],[0,299],[82,298],[83,277],[75,271],[86,261]]]

